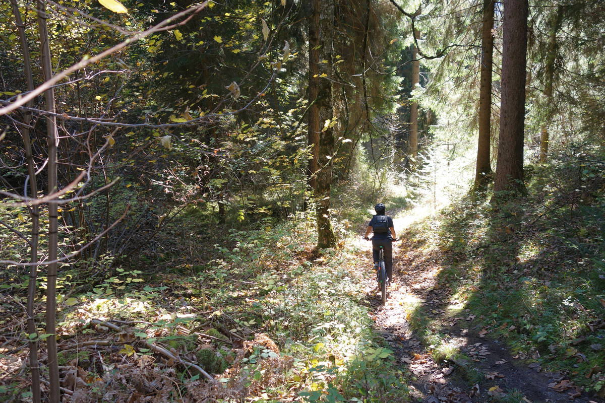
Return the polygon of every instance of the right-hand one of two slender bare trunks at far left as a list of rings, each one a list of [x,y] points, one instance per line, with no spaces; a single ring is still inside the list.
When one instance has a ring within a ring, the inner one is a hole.
[[[38,31],[40,36],[40,46],[42,55],[42,72],[44,80],[52,78],[50,45],[48,44],[48,27],[45,2],[38,0]],[[49,88],[44,92],[46,110],[54,114],[54,90]],[[48,195],[57,192],[57,123],[53,115],[47,116],[47,142],[48,142]],[[58,205],[54,203],[56,198],[48,204],[48,260],[57,259],[57,230],[58,230]],[[59,403],[59,364],[57,362],[57,330],[56,330],[56,284],[57,284],[57,263],[50,263],[47,266],[47,295],[46,295],[46,332],[50,336],[47,341],[48,355],[48,374],[50,381],[50,403]]]

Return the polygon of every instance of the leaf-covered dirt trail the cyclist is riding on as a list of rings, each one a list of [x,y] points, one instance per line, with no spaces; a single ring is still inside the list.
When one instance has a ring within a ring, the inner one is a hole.
[[[373,279],[368,279],[368,298],[375,308],[373,319],[379,332],[411,373],[410,392],[418,401],[603,403],[571,384],[565,374],[543,371],[532,359],[536,357],[513,356],[503,341],[480,335],[472,312],[463,309],[455,317],[446,315],[448,305],[463,305],[451,300],[446,284],[436,283],[439,256],[421,256],[404,241],[393,243],[393,260],[394,283],[387,304],[384,308],[379,305]],[[371,267],[369,254],[367,265]],[[432,346],[423,345],[410,329],[406,308],[412,302],[420,304],[449,343],[470,359],[436,363],[430,355]]]

